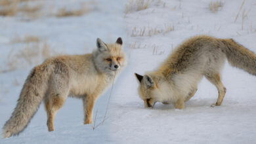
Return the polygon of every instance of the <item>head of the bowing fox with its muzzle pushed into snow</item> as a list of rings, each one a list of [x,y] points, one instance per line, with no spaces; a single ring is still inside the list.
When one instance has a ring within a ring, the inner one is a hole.
[[[144,101],[145,107],[154,107],[157,101],[160,101],[158,84],[150,75],[139,75],[135,73],[139,81],[139,95]]]

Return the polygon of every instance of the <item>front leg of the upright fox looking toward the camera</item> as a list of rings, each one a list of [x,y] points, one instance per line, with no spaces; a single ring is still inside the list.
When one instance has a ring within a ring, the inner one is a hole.
[[[85,119],[83,124],[93,123],[93,107],[95,106],[96,97],[86,96],[83,98],[83,111],[85,113]]]

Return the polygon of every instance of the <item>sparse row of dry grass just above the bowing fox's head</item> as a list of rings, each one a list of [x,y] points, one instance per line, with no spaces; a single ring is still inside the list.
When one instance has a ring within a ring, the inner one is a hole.
[[[169,33],[170,31],[174,31],[175,28],[173,25],[166,25],[162,28],[158,27],[133,27],[131,37],[151,37],[152,35],[158,35],[160,33],[165,34]]]

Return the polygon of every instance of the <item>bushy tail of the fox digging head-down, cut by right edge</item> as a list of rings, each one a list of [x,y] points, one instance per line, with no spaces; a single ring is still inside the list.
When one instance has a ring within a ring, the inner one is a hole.
[[[223,50],[230,65],[244,69],[256,76],[256,55],[233,39],[222,39],[221,41],[224,43]]]

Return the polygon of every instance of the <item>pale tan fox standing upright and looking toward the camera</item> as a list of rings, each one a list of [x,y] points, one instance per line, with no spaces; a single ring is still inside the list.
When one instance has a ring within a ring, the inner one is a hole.
[[[3,136],[22,132],[41,101],[45,102],[48,130],[53,131],[54,117],[68,96],[83,99],[84,124],[91,124],[96,99],[126,65],[121,37],[108,45],[97,39],[96,46],[92,54],[49,58],[33,68],[11,118],[3,126]]]

